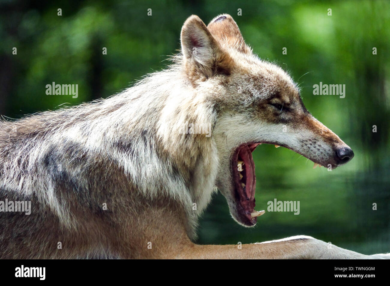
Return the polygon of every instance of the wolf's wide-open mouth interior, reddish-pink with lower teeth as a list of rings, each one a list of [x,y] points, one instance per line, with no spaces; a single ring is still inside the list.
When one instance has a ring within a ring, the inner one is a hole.
[[[252,152],[261,143],[243,144],[236,149],[232,159],[236,207],[240,221],[253,226],[264,211],[255,211],[256,175]]]

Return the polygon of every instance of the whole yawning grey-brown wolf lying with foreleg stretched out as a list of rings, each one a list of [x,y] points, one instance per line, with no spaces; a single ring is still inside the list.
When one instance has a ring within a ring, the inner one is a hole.
[[[211,126],[210,136],[190,125]],[[0,212],[0,258],[390,258],[304,235],[195,244],[217,191],[242,226],[264,213],[255,211],[260,144],[333,170],[354,156],[231,16],[208,26],[190,16],[167,69],[104,100],[1,121],[0,201],[31,202],[31,213]]]

